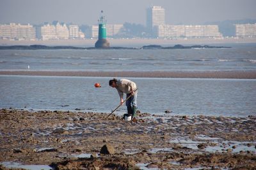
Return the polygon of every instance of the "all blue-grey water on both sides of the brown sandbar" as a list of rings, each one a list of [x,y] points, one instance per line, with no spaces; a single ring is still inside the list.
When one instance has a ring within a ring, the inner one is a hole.
[[[220,45],[219,45],[220,46]],[[0,50],[0,71],[250,71],[256,70],[256,44],[228,49],[156,50]],[[121,78],[121,77],[118,77]],[[189,115],[256,114],[255,79],[128,78],[138,84],[141,112]],[[111,112],[118,93],[113,77],[0,75],[0,108]],[[99,82],[102,88],[94,88]],[[125,106],[116,111],[124,114]]]

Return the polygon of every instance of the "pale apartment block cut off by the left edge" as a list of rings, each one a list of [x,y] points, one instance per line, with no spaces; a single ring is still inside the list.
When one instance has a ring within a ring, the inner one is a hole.
[[[0,38],[7,40],[35,40],[35,27],[21,24],[0,25]]]

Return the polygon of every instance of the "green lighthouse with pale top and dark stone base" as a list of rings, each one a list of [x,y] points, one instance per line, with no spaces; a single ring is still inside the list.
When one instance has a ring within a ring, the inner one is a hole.
[[[101,11],[99,22],[99,38],[97,42],[95,43],[96,48],[108,48],[109,42],[107,40],[107,27],[106,27],[106,20],[103,16],[103,11]]]

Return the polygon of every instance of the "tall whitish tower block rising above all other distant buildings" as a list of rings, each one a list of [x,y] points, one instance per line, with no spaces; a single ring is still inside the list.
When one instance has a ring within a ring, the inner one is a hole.
[[[161,6],[152,6],[147,9],[147,29],[153,33],[154,27],[165,24],[165,10]]]

